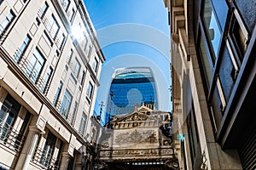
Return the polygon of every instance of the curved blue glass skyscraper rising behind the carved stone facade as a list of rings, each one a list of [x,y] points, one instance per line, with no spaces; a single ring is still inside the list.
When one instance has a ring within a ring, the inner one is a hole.
[[[115,70],[109,88],[105,122],[113,115],[130,113],[135,106],[143,104],[151,104],[154,109],[158,109],[157,90],[151,69],[131,67]]]

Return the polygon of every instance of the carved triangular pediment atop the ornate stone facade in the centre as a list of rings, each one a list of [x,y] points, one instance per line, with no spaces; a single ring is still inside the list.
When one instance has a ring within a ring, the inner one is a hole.
[[[137,108],[135,111],[132,111],[131,113],[127,113],[125,115],[113,116],[113,120],[111,122],[117,123],[117,122],[146,121],[151,111],[152,111],[151,109],[143,105]]]

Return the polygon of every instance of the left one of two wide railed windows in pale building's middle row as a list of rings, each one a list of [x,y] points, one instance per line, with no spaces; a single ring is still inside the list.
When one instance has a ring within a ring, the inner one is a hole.
[[[37,81],[40,71],[42,71],[44,67],[44,61],[43,55],[38,51],[38,48],[36,48],[26,66],[26,76],[29,77],[32,82]]]

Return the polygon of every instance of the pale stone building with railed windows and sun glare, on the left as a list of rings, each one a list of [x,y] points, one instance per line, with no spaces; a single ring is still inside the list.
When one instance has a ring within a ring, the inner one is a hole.
[[[1,168],[91,168],[104,60],[83,1],[0,1]]]

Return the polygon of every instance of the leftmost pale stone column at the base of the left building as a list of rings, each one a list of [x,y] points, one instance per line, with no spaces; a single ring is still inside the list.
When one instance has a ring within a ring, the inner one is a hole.
[[[36,126],[30,126],[25,144],[21,150],[15,170],[26,170],[38,143],[38,136],[41,131]]]

